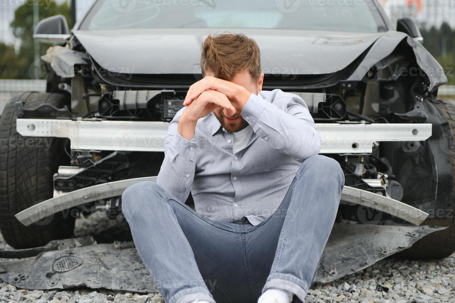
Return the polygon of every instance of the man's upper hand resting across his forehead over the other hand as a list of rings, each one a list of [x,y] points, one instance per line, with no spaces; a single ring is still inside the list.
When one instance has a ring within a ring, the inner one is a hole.
[[[207,90],[222,92],[227,98],[237,102],[239,108],[245,106],[245,103],[247,103],[248,98],[251,95],[251,92],[241,85],[215,77],[204,77],[202,80],[199,80],[190,86],[183,105],[188,106],[194,99],[201,95],[202,92]]]

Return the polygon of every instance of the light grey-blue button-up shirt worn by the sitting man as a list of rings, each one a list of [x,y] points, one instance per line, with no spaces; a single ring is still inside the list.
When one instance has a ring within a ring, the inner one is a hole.
[[[279,89],[251,94],[242,117],[253,128],[247,146],[233,154],[233,134],[213,113],[197,121],[191,141],[177,131],[182,108],[169,123],[157,183],[215,221],[257,225],[280,205],[304,159],[321,139],[307,105]]]

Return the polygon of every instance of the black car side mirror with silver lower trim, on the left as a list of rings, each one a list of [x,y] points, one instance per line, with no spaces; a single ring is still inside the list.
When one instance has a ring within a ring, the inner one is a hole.
[[[33,38],[40,42],[63,42],[70,37],[68,22],[64,15],[55,15],[38,22]]]

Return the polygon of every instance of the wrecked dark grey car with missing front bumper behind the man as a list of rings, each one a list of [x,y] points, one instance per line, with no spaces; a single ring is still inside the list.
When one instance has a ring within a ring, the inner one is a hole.
[[[397,252],[455,251],[455,107],[437,97],[447,78],[411,19],[394,26],[375,0],[165,3],[96,0],[71,31],[62,15],[36,26],[35,39],[55,43],[41,57],[46,92],[16,95],[0,118],[0,139],[10,142],[0,152],[0,230],[18,249],[6,255],[33,260],[1,264],[0,278],[35,289],[154,289],[132,245],[59,239],[72,237],[77,216],[100,208],[119,216],[126,187],[156,180],[168,123],[202,77],[201,43],[222,31],[258,42],[263,89],[301,96],[321,133],[320,153],[344,170],[315,281]],[[100,265],[111,278],[86,279],[106,254],[134,262],[119,262],[120,282],[112,283],[114,261]],[[49,268],[44,286],[30,284]]]

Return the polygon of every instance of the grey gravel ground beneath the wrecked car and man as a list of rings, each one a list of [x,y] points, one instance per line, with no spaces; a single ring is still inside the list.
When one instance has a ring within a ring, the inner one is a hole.
[[[104,212],[76,220],[76,236],[92,235],[99,242],[129,241],[128,224],[122,218],[109,220]],[[0,248],[9,248],[0,239]],[[382,288],[381,289],[379,288]],[[0,302],[25,303],[103,303],[163,302],[160,294],[116,293],[110,290],[40,290],[16,289],[0,283]],[[314,285],[308,291],[308,303],[455,303],[455,254],[443,260],[408,261],[389,257],[374,266],[343,279]],[[237,303],[237,302],[235,302]]]

